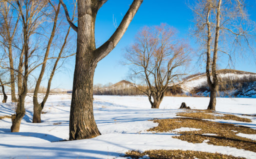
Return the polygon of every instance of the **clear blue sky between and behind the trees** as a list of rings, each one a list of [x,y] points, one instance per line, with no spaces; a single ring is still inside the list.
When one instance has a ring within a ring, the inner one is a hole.
[[[66,2],[68,2],[68,0],[66,0]],[[94,75],[94,84],[116,83],[126,78],[128,67],[122,66],[119,63],[122,60],[123,48],[132,42],[138,29],[145,25],[152,26],[167,23],[170,26],[174,26],[179,30],[179,36],[181,38],[188,38],[191,46],[196,48],[194,40],[188,36],[193,17],[186,3],[191,2],[193,2],[193,0],[144,0],[116,48],[98,63]],[[251,18],[256,21],[256,1],[247,0],[247,3],[250,4],[248,8],[249,14],[251,14]],[[99,45],[108,40],[116,30],[113,24],[113,15],[117,24],[119,24],[122,17],[126,14],[129,4],[132,4],[132,0],[108,0],[99,10],[95,26],[96,41]],[[195,57],[195,59],[197,58]],[[74,64],[74,60],[70,60],[68,66],[66,66],[69,71],[63,72],[62,70],[62,72],[56,74],[53,79],[52,88],[72,89]],[[221,67],[226,68],[226,65],[223,64]],[[254,60],[241,60],[239,64],[237,61],[235,69],[256,73]],[[198,68],[195,69],[194,72],[203,71],[204,68]]]

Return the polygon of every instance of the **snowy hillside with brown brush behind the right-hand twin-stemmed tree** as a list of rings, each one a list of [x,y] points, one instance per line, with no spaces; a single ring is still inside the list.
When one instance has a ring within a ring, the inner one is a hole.
[[[239,70],[218,70],[220,97],[256,97],[256,74]],[[209,96],[206,74],[185,78],[180,85],[187,94]]]

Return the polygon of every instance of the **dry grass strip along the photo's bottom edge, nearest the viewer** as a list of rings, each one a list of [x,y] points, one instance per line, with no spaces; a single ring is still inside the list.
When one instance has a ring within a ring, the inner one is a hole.
[[[144,153],[140,153],[138,151],[126,152],[126,157],[132,157],[133,159],[142,158],[144,155],[148,155],[150,159],[245,159],[243,157],[234,157],[231,155],[201,151],[150,150],[145,151]]]

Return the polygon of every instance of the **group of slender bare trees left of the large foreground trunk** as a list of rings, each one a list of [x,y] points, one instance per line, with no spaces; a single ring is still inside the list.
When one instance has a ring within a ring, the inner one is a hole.
[[[54,73],[62,66],[64,59],[74,55],[75,50],[70,50],[73,40],[69,36],[70,27],[63,22],[60,2],[6,0],[0,3],[0,67],[5,72],[5,76],[1,76],[4,77],[1,85],[2,88],[4,85],[10,87],[12,102],[17,102],[11,131],[18,132],[26,113],[25,98],[29,81],[36,79],[33,122],[40,123],[40,114],[48,98]],[[58,64],[59,61],[61,64]],[[46,70],[49,75],[44,74]],[[43,78],[48,79],[48,87],[44,99],[39,99],[38,91]]]

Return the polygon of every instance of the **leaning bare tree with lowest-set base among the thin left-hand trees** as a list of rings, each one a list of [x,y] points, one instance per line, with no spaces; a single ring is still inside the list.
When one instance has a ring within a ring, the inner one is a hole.
[[[30,59],[37,50],[37,46],[32,46],[30,39],[32,35],[36,34],[40,25],[46,20],[46,5],[48,0],[17,0],[16,5],[12,5],[21,16],[22,23],[22,49],[20,53],[20,61],[18,66],[18,103],[16,114],[12,117],[12,132],[20,130],[20,123],[24,117],[25,111],[25,97],[28,91],[28,76],[36,69],[33,66],[35,62]],[[33,44],[36,45],[36,44]],[[24,68],[24,69],[23,69]]]

